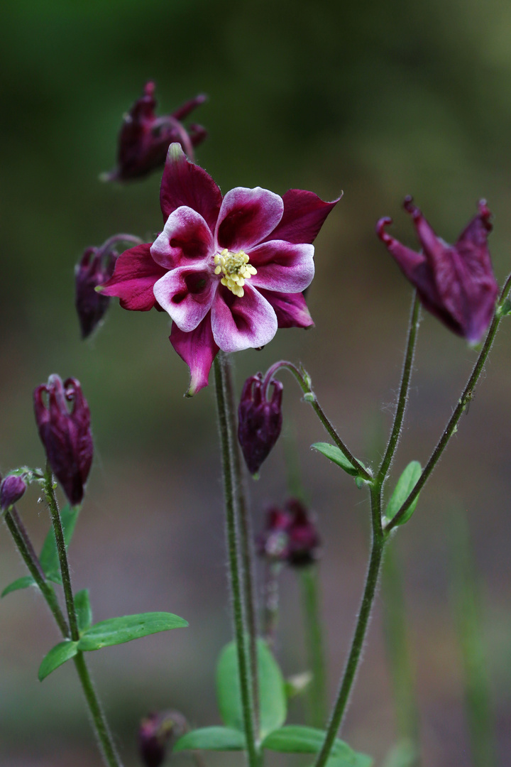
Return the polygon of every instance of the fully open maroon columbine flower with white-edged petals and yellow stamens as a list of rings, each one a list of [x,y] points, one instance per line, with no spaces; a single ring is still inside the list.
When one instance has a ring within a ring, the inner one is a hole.
[[[102,290],[123,308],[169,313],[170,341],[192,373],[189,394],[207,386],[219,348],[261,347],[279,327],[313,324],[302,295],[314,275],[311,243],[338,200],[259,186],[222,197],[173,143],[160,202],[162,233],[120,255]]]

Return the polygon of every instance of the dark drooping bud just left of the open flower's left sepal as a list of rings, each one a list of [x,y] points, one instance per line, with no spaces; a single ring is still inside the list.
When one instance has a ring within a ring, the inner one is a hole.
[[[110,297],[98,293],[97,285],[103,285],[113,275],[117,253],[113,250],[87,248],[74,269],[75,306],[82,338],[87,338],[97,328],[110,304]]]

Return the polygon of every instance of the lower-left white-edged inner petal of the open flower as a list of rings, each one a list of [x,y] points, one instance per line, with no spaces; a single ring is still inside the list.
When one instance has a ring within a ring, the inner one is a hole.
[[[208,269],[183,266],[163,275],[154,286],[154,295],[178,328],[189,333],[208,314],[217,286]]]

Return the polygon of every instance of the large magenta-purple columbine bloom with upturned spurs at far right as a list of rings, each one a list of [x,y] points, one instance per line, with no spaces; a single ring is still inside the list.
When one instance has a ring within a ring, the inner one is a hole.
[[[417,288],[423,306],[467,341],[480,341],[492,320],[498,293],[486,242],[492,230],[486,202],[480,201],[478,215],[455,245],[437,237],[411,197],[403,205],[414,221],[421,252],[406,248],[385,232],[392,219],[378,221],[378,237]]]

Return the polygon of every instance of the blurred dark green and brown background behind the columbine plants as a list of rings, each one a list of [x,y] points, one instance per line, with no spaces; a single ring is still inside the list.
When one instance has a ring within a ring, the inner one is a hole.
[[[161,114],[205,92],[209,100],[193,119],[209,138],[197,159],[224,192],[298,187],[333,199],[344,190],[316,240],[309,297],[316,328],[280,331],[264,351],[238,354],[237,377],[279,357],[303,361],[349,446],[374,461],[391,421],[411,300],[375,238],[376,219],[393,216],[394,232],[414,246],[401,212],[412,193],[452,242],[484,196],[495,212],[496,275],[502,281],[509,272],[510,32],[503,0],[2,6],[0,465],[41,464],[31,392],[53,372],[78,377],[93,413],[96,459],[70,550],[74,584],[90,588],[97,620],[162,609],[190,623],[91,657],[128,767],[138,764],[136,726],[150,709],[172,706],[195,725],[218,723],[213,669],[230,627],[212,391],[182,399],[188,370],[167,340],[165,315],[113,305],[84,344],[74,314],[74,264],[85,247],[118,231],[150,238],[160,226],[158,173],[125,187],[98,180],[115,163],[123,112],[149,78]],[[502,764],[511,752],[508,324],[396,544],[405,562],[424,765],[434,767],[472,763],[450,598],[453,505],[467,509],[476,543]],[[412,458],[425,463],[473,359],[464,341],[424,317],[396,472]],[[325,542],[333,694],[362,590],[368,509],[352,480],[310,453],[322,430],[292,380],[285,386],[286,433],[253,483],[254,525],[267,503],[285,498],[283,443],[296,439]],[[48,522],[37,499],[28,492],[20,511],[41,542]],[[3,588],[25,572],[6,529],[0,532]],[[287,673],[304,667],[292,576],[283,578],[277,644]],[[57,640],[37,594],[12,594],[0,616],[0,763],[99,764],[73,668],[37,681],[38,664]],[[299,707],[293,717],[300,719]],[[377,764],[395,742],[379,607],[343,736]]]

